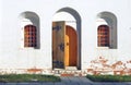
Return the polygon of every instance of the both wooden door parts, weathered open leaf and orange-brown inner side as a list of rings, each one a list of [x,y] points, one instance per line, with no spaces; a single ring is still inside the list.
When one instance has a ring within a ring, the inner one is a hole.
[[[76,66],[78,35],[66,22],[52,22],[52,68]]]

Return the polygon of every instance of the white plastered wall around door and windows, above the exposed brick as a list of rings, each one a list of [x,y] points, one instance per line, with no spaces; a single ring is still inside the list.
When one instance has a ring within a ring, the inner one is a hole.
[[[81,69],[99,56],[109,59],[131,60],[131,1],[130,0],[0,0],[0,69],[52,69],[51,22],[62,8],[75,10],[82,20]],[[22,47],[20,14],[26,11],[39,16],[40,48]],[[117,49],[97,47],[96,19],[100,12],[117,16]],[[75,26],[75,25],[74,25]]]

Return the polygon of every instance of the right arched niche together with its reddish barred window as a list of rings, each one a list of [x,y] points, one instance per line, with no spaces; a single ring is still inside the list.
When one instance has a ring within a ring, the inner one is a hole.
[[[117,49],[117,16],[111,12],[97,14],[97,47]]]

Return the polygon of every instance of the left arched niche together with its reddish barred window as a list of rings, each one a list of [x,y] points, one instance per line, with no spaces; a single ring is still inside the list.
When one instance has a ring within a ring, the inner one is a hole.
[[[21,21],[21,47],[22,48],[40,48],[40,29],[39,16],[35,12],[23,12],[20,14]]]

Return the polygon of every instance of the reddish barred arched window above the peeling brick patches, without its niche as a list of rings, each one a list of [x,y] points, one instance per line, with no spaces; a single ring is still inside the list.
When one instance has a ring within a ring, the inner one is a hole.
[[[109,27],[100,25],[97,29],[98,47],[109,47]]]

